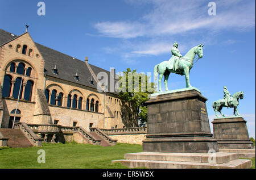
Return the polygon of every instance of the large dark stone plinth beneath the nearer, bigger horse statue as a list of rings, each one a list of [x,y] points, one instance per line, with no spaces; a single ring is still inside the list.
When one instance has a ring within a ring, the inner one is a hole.
[[[196,89],[152,95],[146,102],[147,135],[143,152],[218,152],[217,140],[210,132],[206,101]]]

